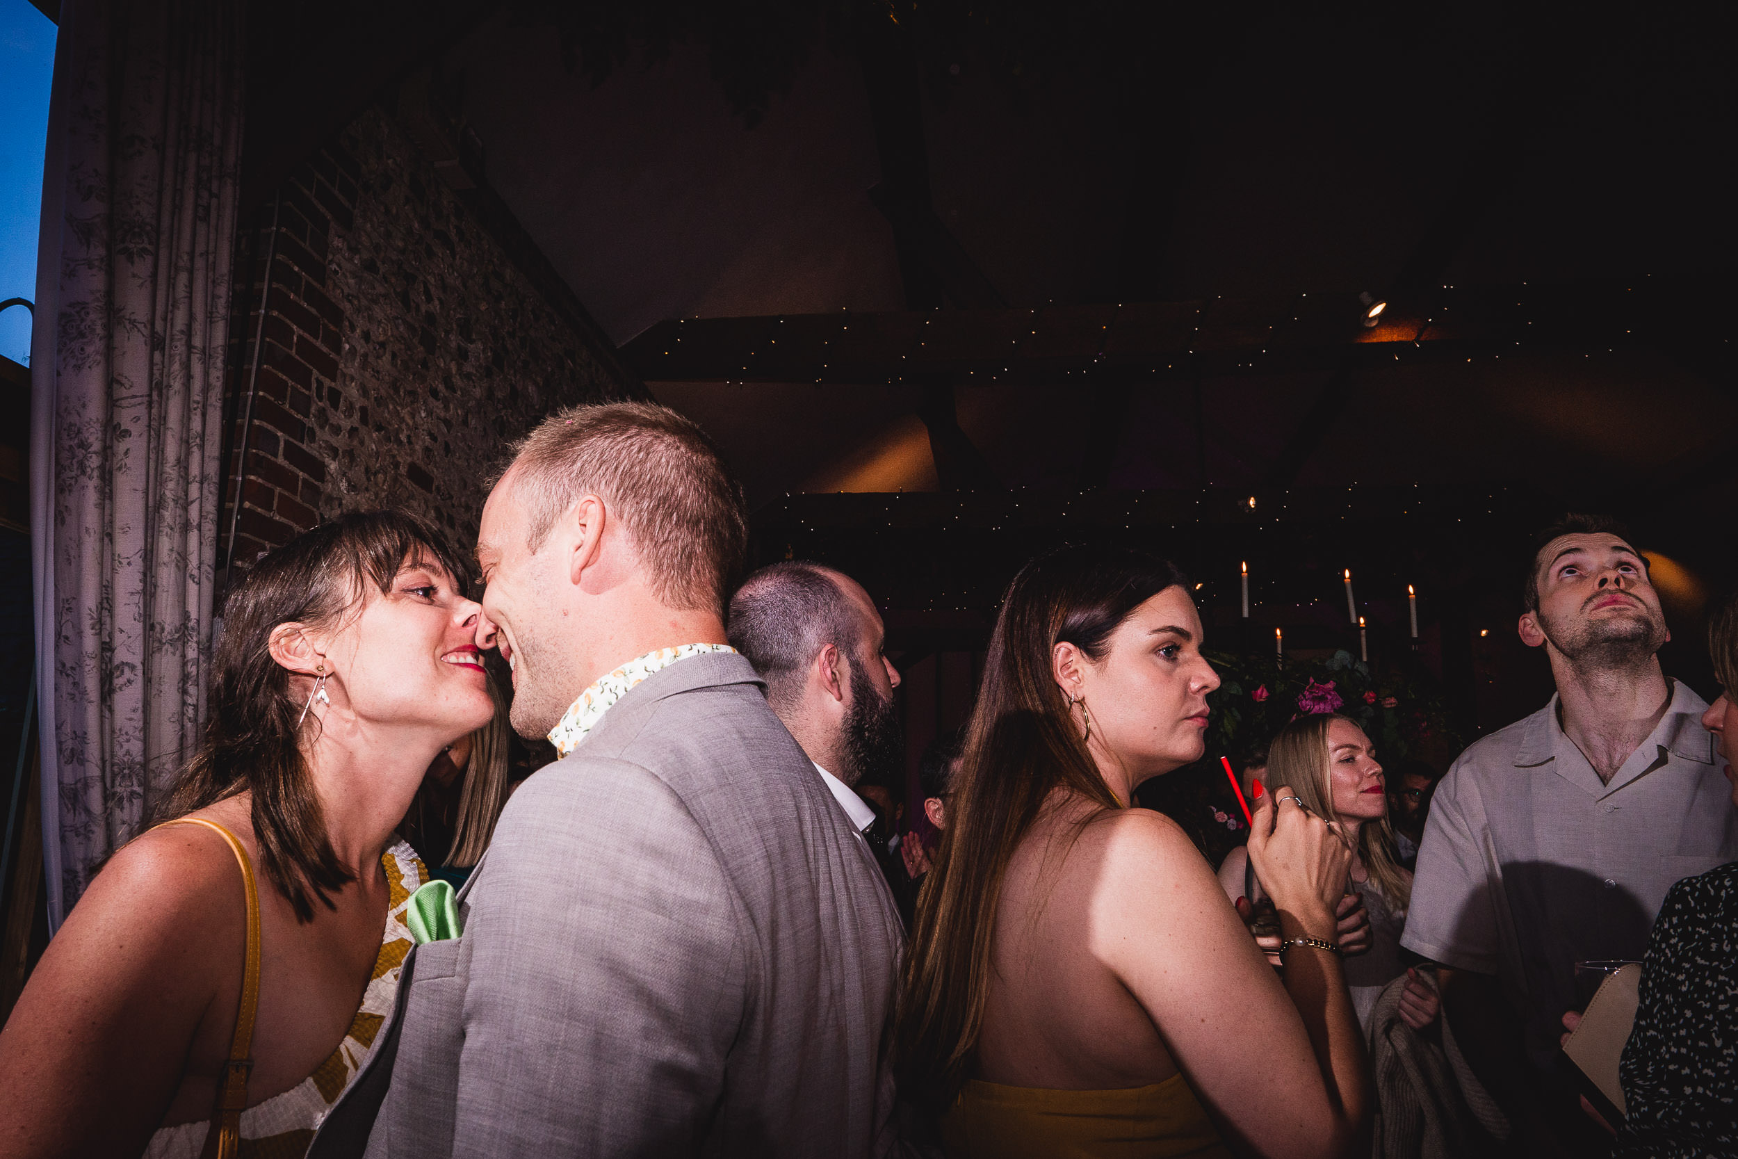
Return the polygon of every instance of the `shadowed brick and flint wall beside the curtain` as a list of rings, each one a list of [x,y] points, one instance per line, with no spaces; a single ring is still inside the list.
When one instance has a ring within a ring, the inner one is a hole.
[[[507,443],[556,407],[634,389],[487,188],[454,184],[374,106],[283,184],[275,240],[261,207],[236,278],[219,568],[238,469],[240,566],[372,507],[426,516],[464,551]]]

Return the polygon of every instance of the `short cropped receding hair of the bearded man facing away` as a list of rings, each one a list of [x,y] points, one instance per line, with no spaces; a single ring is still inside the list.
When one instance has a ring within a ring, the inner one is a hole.
[[[819,563],[786,560],[747,577],[730,598],[726,638],[766,681],[773,709],[798,699],[803,672],[827,645],[855,664],[857,610],[834,575]]]

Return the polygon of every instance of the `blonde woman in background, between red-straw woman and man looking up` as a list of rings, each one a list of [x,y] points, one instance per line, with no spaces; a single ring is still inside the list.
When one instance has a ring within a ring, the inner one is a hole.
[[[1370,916],[1370,931],[1364,935],[1368,950],[1345,959],[1345,983],[1357,1020],[1368,1032],[1382,989],[1411,973],[1401,961],[1411,871],[1401,867],[1394,851],[1389,798],[1375,747],[1356,721],[1338,712],[1302,716],[1274,737],[1262,780],[1276,801],[1295,796],[1309,813],[1326,818],[1352,850],[1350,886]],[[1218,881],[1232,902],[1248,897],[1251,884],[1257,897],[1250,902],[1262,900],[1260,881],[1253,881],[1248,865],[1248,851],[1236,848],[1218,869]],[[1430,983],[1411,973],[1401,997],[1401,1018],[1422,1030],[1436,1020],[1437,1006]]]

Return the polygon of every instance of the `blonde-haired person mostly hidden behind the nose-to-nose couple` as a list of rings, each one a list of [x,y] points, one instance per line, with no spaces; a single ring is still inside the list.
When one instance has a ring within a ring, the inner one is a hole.
[[[476,869],[507,805],[511,725],[507,700],[494,676],[488,697],[495,702],[495,716],[434,758],[398,827],[429,874],[450,881],[455,890]]]

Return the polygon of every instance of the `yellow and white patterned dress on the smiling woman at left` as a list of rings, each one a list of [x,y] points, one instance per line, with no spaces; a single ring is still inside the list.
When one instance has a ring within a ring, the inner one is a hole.
[[[393,1013],[398,968],[403,966],[412,945],[410,930],[405,926],[405,904],[417,886],[428,881],[428,871],[415,850],[403,841],[381,855],[381,865],[386,869],[386,886],[391,891],[386,933],[381,937],[381,954],[374,959],[368,989],[362,992],[362,1006],[351,1018],[344,1041],[311,1076],[299,1086],[242,1112],[240,1159],[301,1159],[325,1112],[356,1077],[374,1036],[381,1032],[381,1023]],[[209,1129],[209,1121],[165,1126],[151,1136],[144,1159],[198,1159]]]

